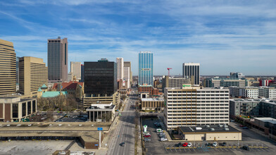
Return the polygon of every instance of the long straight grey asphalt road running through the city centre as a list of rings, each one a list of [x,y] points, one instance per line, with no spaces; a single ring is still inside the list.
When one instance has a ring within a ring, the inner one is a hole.
[[[127,98],[127,101],[125,101],[124,111],[120,112],[122,116],[120,116],[120,121],[115,130],[115,136],[111,140],[111,147],[108,149],[108,154],[110,155],[134,154],[135,101],[130,98]],[[125,147],[120,146],[122,142],[125,142]]]

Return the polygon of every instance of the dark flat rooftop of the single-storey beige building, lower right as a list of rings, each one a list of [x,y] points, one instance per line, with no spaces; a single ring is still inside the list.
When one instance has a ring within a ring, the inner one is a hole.
[[[241,132],[231,126],[223,126],[223,125],[199,125],[192,127],[179,127],[180,130],[184,133],[193,133],[193,132]],[[226,130],[225,130],[226,128]],[[197,129],[197,130],[196,130]]]

